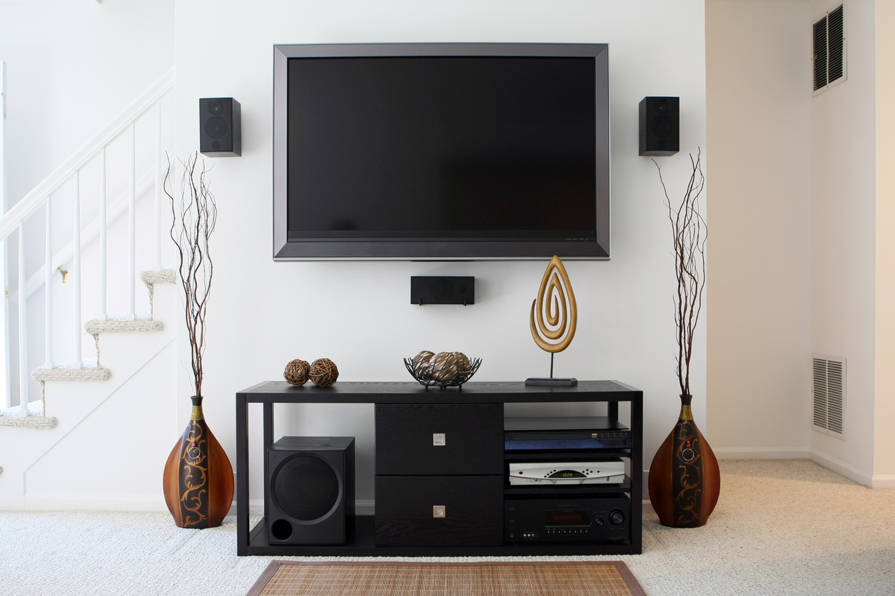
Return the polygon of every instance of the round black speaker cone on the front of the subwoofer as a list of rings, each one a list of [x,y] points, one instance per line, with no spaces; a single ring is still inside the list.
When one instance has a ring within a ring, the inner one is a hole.
[[[279,508],[303,522],[326,516],[339,499],[338,476],[317,457],[287,459],[277,470],[273,488]]]

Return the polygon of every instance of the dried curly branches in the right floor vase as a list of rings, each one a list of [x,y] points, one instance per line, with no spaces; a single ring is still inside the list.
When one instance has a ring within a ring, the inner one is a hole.
[[[690,357],[693,354],[693,336],[696,323],[703,310],[703,290],[705,289],[705,239],[708,230],[703,216],[699,213],[699,196],[705,187],[705,176],[701,163],[702,154],[690,154],[693,172],[686,185],[684,198],[677,209],[671,206],[665,180],[662,180],[661,166],[659,180],[665,192],[665,205],[669,209],[671,232],[674,235],[675,275],[678,290],[674,298],[675,323],[678,326],[678,382],[681,393],[690,394]]]

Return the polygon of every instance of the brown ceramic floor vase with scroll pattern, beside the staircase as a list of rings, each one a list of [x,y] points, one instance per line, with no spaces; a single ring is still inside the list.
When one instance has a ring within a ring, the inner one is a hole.
[[[192,397],[192,416],[165,465],[165,500],[182,528],[213,528],[233,503],[233,467]]]

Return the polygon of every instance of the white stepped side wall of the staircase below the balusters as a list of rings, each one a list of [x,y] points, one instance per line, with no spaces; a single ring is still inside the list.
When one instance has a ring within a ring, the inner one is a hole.
[[[176,416],[174,284],[156,284],[160,332],[103,333],[107,381],[47,382],[53,429],[0,427],[0,509],[166,510]]]

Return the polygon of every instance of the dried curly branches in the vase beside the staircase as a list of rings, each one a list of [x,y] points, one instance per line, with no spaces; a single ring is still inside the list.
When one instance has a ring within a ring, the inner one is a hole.
[[[167,157],[167,155],[166,155]],[[180,182],[180,200],[168,190],[171,176],[171,160],[167,158],[165,194],[171,199],[171,239],[180,253],[180,281],[185,298],[186,328],[190,335],[193,388],[196,396],[202,395],[202,354],[205,351],[205,314],[209,303],[209,291],[214,267],[209,253],[209,238],[215,231],[217,205],[209,190],[206,174],[209,172],[202,160],[197,171],[198,153],[181,159],[183,178]]]

